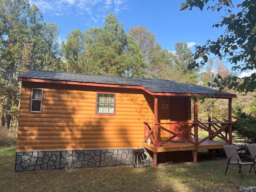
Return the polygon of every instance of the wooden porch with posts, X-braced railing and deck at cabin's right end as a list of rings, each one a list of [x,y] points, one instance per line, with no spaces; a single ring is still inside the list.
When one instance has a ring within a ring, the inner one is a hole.
[[[157,166],[157,153],[172,151],[193,151],[193,162],[197,163],[198,150],[222,149],[225,144],[232,144],[232,98],[228,99],[228,122],[198,121],[198,99],[194,99],[194,121],[190,118],[184,120],[169,120],[161,122],[158,114],[159,96],[154,97],[154,122],[144,121],[143,147],[153,152],[153,165]],[[160,102],[161,103],[161,102]],[[190,108],[191,109],[191,108]],[[180,114],[182,115],[182,114]],[[160,115],[161,116],[161,115]],[[205,138],[198,137],[198,130],[208,132]],[[213,140],[218,137],[222,140]],[[147,142],[151,140],[151,142]]]

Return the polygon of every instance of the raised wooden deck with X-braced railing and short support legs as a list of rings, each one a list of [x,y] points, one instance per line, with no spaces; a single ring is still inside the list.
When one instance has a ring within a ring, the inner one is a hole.
[[[152,128],[150,127],[152,124]],[[169,129],[164,128],[162,124],[169,124]],[[232,122],[175,122],[175,123],[150,123],[144,122],[144,135],[145,139],[143,147],[153,152],[153,165],[157,162],[157,153],[171,152],[171,151],[193,151],[193,162],[197,162],[197,151],[203,149],[221,149],[223,145],[232,144]],[[173,132],[170,128],[171,125],[183,124],[184,128],[178,132]],[[198,129],[208,132],[205,138],[198,137]],[[166,132],[169,134],[167,139],[162,140],[158,137],[158,131]],[[191,138],[188,138],[185,134]],[[213,140],[215,137],[220,138],[223,142]],[[174,140],[180,138],[180,140]],[[147,144],[146,141],[150,139],[152,144]]]

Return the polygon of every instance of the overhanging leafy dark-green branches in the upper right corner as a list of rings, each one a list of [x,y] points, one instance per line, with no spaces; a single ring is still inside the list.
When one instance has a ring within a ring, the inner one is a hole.
[[[203,10],[209,4],[209,0],[187,0],[182,4],[180,10],[198,7]],[[232,64],[232,75],[218,76],[214,86],[219,90],[224,88],[234,89],[238,92],[252,92],[256,88],[256,74],[238,78],[237,73],[254,70],[256,68],[256,1],[242,0],[236,6],[238,13],[234,14],[232,0],[219,0],[215,5],[208,6],[207,10],[225,11],[219,23],[213,24],[214,27],[225,27],[224,33],[216,40],[208,40],[204,46],[196,46],[194,54],[195,61],[190,64],[191,68],[208,62],[208,55],[215,54],[220,59],[227,58]],[[196,60],[201,57],[199,63]]]

